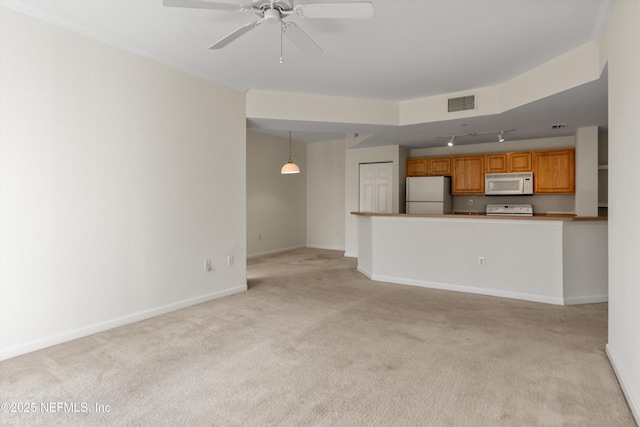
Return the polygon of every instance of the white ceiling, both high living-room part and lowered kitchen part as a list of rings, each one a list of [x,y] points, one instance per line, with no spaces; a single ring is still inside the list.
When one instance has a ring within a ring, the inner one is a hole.
[[[250,0],[217,0],[247,4]],[[343,0],[331,0],[340,2]],[[308,59],[263,24],[221,50],[211,44],[257,19],[252,13],[169,8],[162,0],[0,0],[31,15],[238,90],[262,89],[406,100],[493,86],[598,40],[611,0],[372,0],[363,20],[289,18],[323,50]],[[299,0],[297,3],[313,1]],[[315,2],[323,2],[316,0]],[[552,130],[555,123],[566,128]],[[248,121],[302,142],[374,133],[367,146],[442,145],[441,136],[517,129],[510,139],[572,135],[607,124],[606,75],[494,116],[404,127]],[[496,135],[468,137],[487,142]]]

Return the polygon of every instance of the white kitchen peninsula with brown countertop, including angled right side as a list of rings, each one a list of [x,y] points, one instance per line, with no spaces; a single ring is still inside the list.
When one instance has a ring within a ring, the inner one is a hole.
[[[549,304],[608,298],[605,217],[358,217],[358,270],[372,280]]]

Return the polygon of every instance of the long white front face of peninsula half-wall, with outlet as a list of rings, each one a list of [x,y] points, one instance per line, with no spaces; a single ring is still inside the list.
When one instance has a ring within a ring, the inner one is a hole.
[[[562,303],[559,221],[372,220],[374,280]]]

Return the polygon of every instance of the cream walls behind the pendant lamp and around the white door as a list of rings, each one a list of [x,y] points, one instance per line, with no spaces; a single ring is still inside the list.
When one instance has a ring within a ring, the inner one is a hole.
[[[406,150],[397,146],[347,150],[357,141],[294,141],[293,160],[302,173],[282,176],[279,168],[286,161],[288,142],[247,133],[248,256],[300,247],[344,250],[354,256],[357,230],[350,227],[357,224],[350,212],[358,210],[359,164],[392,161],[394,179],[400,180],[406,161]],[[404,204],[403,189],[403,182],[394,185],[395,212]]]

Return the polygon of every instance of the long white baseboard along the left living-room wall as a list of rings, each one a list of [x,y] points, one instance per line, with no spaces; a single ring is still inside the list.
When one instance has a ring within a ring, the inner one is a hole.
[[[130,323],[139,322],[140,320],[149,319],[151,317],[159,316],[161,314],[169,313],[171,311],[180,310],[181,308],[190,307],[192,305],[200,304],[203,302],[211,301],[214,299],[222,298],[225,296],[237,294],[247,290],[247,285],[236,286],[222,291],[213,292],[211,294],[202,295],[196,298],[191,298],[184,301],[179,301],[173,304],[163,305],[161,307],[152,308],[149,310],[139,311],[137,313],[128,314],[126,316],[117,317],[115,319],[107,320],[105,322],[95,323],[86,327],[74,329],[60,334],[48,336],[45,338],[37,339],[17,346],[9,347],[0,350],[0,360],[10,359],[12,357],[20,356],[23,354],[31,353],[36,350],[42,350],[43,348],[51,347],[57,344],[62,344],[68,341],[72,341],[78,338],[84,338],[89,335],[96,334],[98,332],[104,332],[109,329],[117,328],[119,326],[128,325]]]

